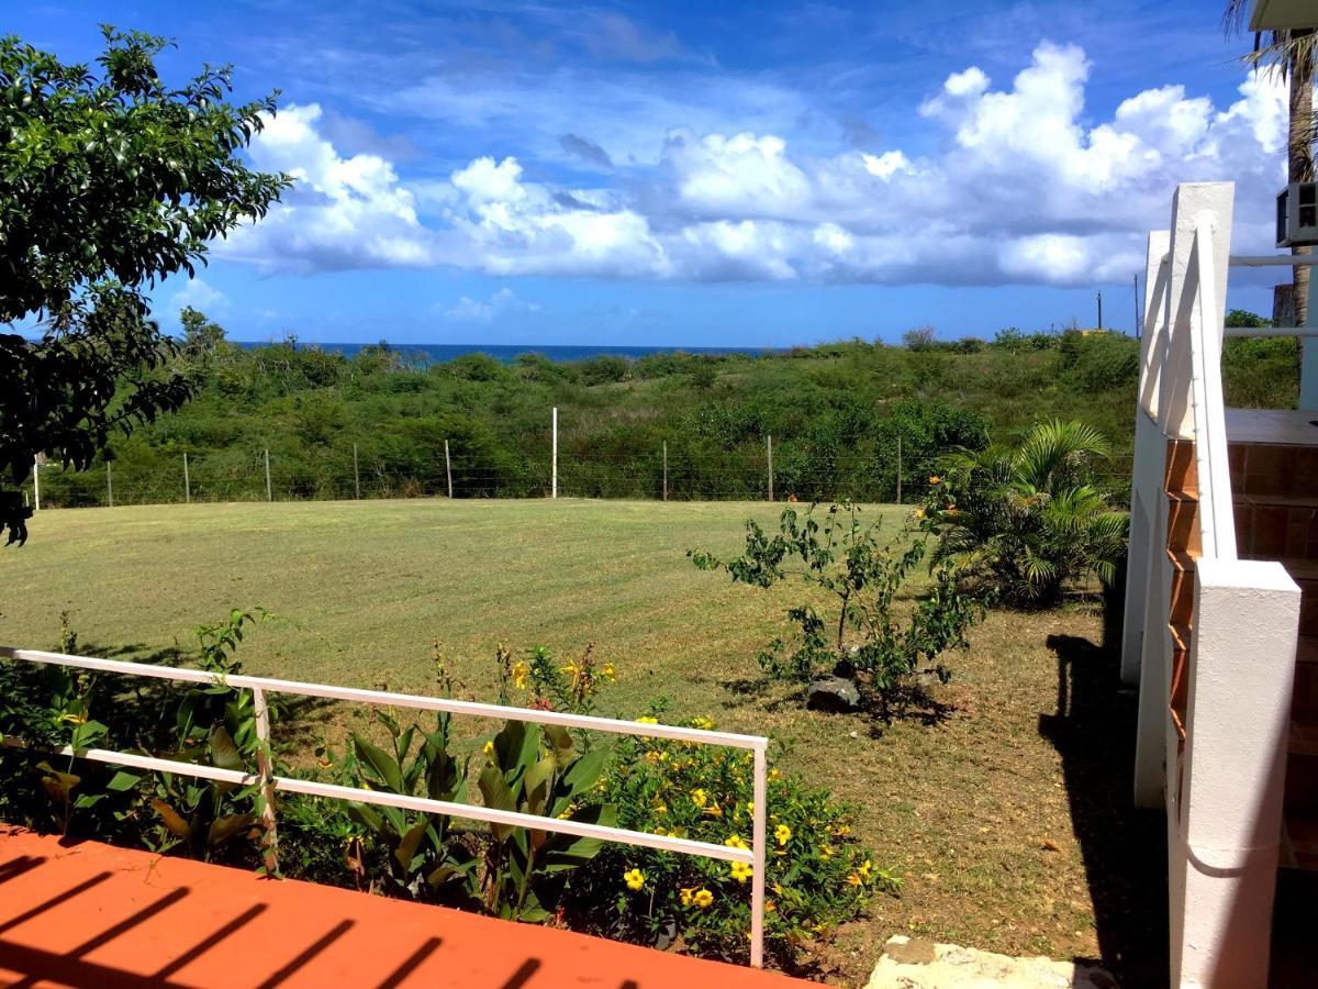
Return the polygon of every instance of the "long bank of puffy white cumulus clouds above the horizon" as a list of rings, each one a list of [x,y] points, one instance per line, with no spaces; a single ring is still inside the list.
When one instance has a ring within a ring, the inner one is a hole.
[[[1079,47],[1045,42],[1006,86],[974,66],[952,73],[912,107],[942,136],[927,154],[818,154],[768,131],[655,127],[656,161],[614,158],[589,187],[543,178],[540,162],[514,156],[406,182],[378,156],[339,153],[318,128],[319,107],[294,107],[252,154],[298,175],[299,189],[224,249],[290,270],[1124,282],[1143,269],[1145,232],[1166,224],[1176,183],[1218,179],[1238,182],[1236,243],[1264,247],[1282,175],[1284,84],[1246,76],[1226,107],[1162,86],[1095,121],[1085,107],[1091,71]],[[472,320],[498,311],[496,299],[444,310]]]

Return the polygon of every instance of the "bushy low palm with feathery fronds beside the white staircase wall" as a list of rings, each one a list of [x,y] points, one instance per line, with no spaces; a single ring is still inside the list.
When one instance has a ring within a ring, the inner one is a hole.
[[[956,566],[1015,607],[1054,604],[1090,575],[1115,578],[1128,520],[1098,485],[1107,443],[1079,422],[1041,422],[1016,448],[945,459],[921,522],[934,566]]]

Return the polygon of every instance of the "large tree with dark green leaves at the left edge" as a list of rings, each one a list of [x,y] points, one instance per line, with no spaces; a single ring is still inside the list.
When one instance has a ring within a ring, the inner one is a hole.
[[[240,152],[274,95],[231,103],[229,67],[179,88],[163,38],[103,29],[96,70],[0,38],[0,476],[21,485],[45,454],[84,469],[115,431],[192,392],[146,291],[195,274],[207,244],[262,218],[290,186]],[[0,533],[29,513],[0,488]]]

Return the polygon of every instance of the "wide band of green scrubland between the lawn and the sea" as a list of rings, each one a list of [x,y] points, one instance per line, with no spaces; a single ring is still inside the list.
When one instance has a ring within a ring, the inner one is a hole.
[[[1257,319],[1234,313],[1232,319]],[[903,345],[862,340],[763,356],[658,353],[511,364],[467,355],[409,363],[387,344],[344,357],[295,340],[257,348],[185,313],[178,361],[199,381],[181,411],[113,442],[116,502],[439,494],[448,440],[457,497],[540,496],[550,485],[550,409],[559,407],[560,492],[659,497],[663,444],[677,498],[759,498],[774,439],[775,494],[892,501],[920,497],[953,447],[1019,442],[1045,418],[1078,419],[1112,442],[1128,473],[1139,342],[1111,332],[1025,334]],[[1293,406],[1293,339],[1230,340],[1227,401]],[[104,465],[42,475],[43,504],[101,504]]]

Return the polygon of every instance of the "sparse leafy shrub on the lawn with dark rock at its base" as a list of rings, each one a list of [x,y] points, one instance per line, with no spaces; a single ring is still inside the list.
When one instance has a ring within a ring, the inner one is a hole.
[[[804,684],[846,663],[884,705],[917,670],[931,670],[946,682],[950,670],[941,657],[969,645],[966,632],[983,617],[985,599],[962,592],[960,574],[942,562],[933,588],[917,597],[908,616],[900,616],[898,593],[924,559],[924,539],[912,539],[911,530],[903,529],[884,545],[879,524],[862,524],[854,505],[830,505],[822,522],[815,510],[815,505],[804,513],[784,510],[772,538],[749,521],[745,553],[733,560],[704,550],[687,553],[697,568],[726,570],[734,583],[768,588],[796,576],[833,601],[828,614],[811,603],[791,608],[787,617],[796,626],[795,647],[784,655],[786,642],[775,640],[760,651],[760,666]],[[797,563],[800,570],[787,568]]]

